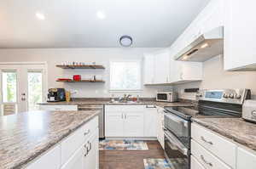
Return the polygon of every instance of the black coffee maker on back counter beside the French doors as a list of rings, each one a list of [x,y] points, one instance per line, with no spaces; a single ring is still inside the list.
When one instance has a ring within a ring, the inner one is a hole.
[[[64,88],[49,88],[47,102],[66,101],[66,93]]]

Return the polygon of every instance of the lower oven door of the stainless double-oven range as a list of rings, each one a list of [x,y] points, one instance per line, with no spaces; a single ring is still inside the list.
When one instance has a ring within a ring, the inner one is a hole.
[[[165,129],[165,155],[172,168],[189,169],[189,149]]]

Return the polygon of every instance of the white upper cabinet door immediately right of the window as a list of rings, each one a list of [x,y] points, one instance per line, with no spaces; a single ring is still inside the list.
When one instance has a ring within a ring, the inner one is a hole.
[[[153,84],[154,83],[154,55],[147,54],[144,57],[143,65],[143,81],[144,84]]]

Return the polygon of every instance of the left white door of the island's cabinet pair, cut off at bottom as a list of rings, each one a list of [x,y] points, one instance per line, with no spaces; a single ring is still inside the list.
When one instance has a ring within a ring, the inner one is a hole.
[[[61,169],[84,169],[84,146],[81,146]]]

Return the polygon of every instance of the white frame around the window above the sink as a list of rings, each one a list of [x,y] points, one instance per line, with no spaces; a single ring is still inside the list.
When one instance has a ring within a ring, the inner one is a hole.
[[[139,65],[139,81],[140,81],[140,85],[139,85],[139,89],[113,89],[111,87],[111,81],[112,81],[112,75],[111,75],[111,65],[112,63],[116,63],[116,62],[120,62],[120,63],[129,63],[129,62],[137,62],[137,64]],[[132,92],[132,93],[141,93],[143,92],[143,65],[142,65],[142,59],[116,59],[116,60],[110,60],[109,61],[109,92],[114,92],[114,93],[124,93],[124,92]]]

